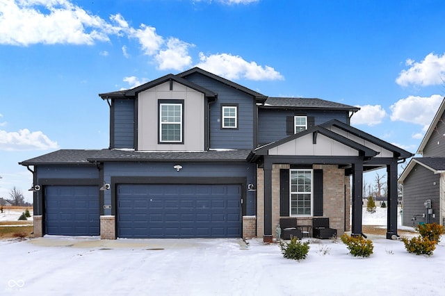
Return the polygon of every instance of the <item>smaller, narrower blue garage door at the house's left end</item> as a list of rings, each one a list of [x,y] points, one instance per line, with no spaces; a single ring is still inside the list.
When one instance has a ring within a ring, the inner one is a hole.
[[[97,186],[45,186],[46,233],[99,236]]]

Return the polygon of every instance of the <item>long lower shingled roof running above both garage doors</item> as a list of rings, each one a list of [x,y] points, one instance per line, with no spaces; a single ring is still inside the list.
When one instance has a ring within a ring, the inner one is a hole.
[[[210,151],[133,151],[127,149],[63,149],[19,165],[90,165],[102,162],[245,161],[250,149]]]

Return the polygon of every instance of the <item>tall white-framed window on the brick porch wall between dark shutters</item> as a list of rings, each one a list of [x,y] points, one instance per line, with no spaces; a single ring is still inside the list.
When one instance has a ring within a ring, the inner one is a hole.
[[[312,216],[312,170],[291,170],[291,216]]]

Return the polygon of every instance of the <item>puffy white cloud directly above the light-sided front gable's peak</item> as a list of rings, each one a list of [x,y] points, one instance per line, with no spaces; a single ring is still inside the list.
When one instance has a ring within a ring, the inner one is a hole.
[[[192,58],[188,55],[188,47],[191,46],[177,38],[170,38],[167,42],[167,49],[159,51],[159,54],[156,55],[158,68],[161,70],[182,70],[190,66]]]

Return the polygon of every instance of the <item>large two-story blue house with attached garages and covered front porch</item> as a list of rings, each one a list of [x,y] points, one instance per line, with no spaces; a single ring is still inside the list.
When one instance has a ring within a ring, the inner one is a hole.
[[[379,167],[397,234],[397,165],[412,154],[350,126],[357,107],[266,97],[199,68],[99,96],[108,149],[20,163],[33,172],[37,236],[272,241],[284,216],[360,234],[363,172]]]

